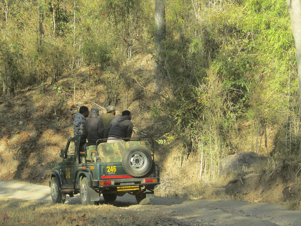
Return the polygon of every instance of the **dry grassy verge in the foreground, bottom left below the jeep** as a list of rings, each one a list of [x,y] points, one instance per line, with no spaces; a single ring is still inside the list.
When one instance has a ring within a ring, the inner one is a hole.
[[[120,209],[111,205],[82,206],[0,197],[0,225],[181,225],[161,213]]]

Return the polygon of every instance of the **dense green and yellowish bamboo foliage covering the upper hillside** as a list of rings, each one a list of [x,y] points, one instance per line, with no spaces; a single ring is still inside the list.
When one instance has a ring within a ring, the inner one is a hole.
[[[154,1],[7,0],[0,9],[2,95],[65,74],[76,86],[73,72],[88,66],[88,81],[104,82],[107,104],[116,104],[118,90],[130,87],[124,65],[153,53]],[[172,120],[159,143],[181,140],[181,161],[202,152],[212,178],[229,153],[268,154],[272,128],[280,153],[296,154],[299,95],[285,1],[169,0],[164,45],[164,91],[151,111]]]

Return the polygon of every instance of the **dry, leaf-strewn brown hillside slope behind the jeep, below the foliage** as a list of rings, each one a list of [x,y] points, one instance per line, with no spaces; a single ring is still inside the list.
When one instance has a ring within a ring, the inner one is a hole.
[[[138,66],[133,69],[135,76],[141,74],[142,81],[145,78],[142,74],[151,70],[151,67],[145,66],[146,61],[141,60],[142,70],[139,70]],[[82,69],[77,73],[85,78],[90,70]],[[132,112],[135,137],[151,136],[155,140],[162,139],[161,137],[172,129],[172,120],[162,111],[156,115],[154,106],[158,106],[160,97],[151,92],[149,82],[141,84],[133,77],[130,78],[132,80],[128,89],[120,91],[116,100],[116,108],[119,109],[117,114],[125,109]],[[101,81],[88,83],[83,80],[82,87],[78,87],[76,91],[75,100],[71,85],[71,80],[66,76],[54,85],[46,82],[37,87],[18,90],[10,99],[0,99],[0,178],[48,185],[49,171],[46,171],[46,168],[51,168],[61,161],[58,151],[63,149],[67,139],[73,136],[73,115],[79,106],[86,105],[91,108],[97,104],[104,109],[106,107],[107,93]],[[101,112],[103,113],[105,110]],[[245,128],[242,133],[248,133],[248,127],[242,128]],[[269,138],[271,145],[274,143],[274,137],[273,135]],[[179,155],[178,150],[181,148],[181,141],[177,138],[169,145],[155,142],[155,156],[161,168],[161,185],[157,186],[157,195],[287,202],[289,207],[299,208],[300,184],[296,176],[296,161],[280,163],[276,168],[272,167],[271,162],[263,168],[255,169],[252,173],[259,173],[260,179],[254,183],[238,183],[239,188],[236,187],[235,190],[240,192],[229,196],[224,193],[224,188],[228,181],[237,178],[240,172],[226,178],[216,177],[214,182],[203,172],[200,179],[201,153],[197,150],[184,158]],[[269,149],[273,149],[273,145]],[[274,173],[269,176],[272,172]],[[244,190],[250,192],[244,193]]]

